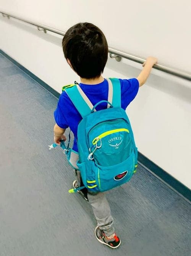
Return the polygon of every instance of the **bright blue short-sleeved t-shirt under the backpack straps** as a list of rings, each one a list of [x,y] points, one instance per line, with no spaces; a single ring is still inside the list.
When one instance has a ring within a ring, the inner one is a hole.
[[[121,107],[126,109],[138,93],[139,81],[136,78],[120,79],[121,83]],[[97,102],[108,99],[108,82],[106,79],[100,84],[79,84],[86,96],[94,106]],[[96,107],[96,110],[107,109],[107,103],[103,102]],[[74,104],[65,91],[62,92],[58,100],[57,109],[54,112],[54,118],[60,128],[70,127],[74,134],[73,150],[78,152],[77,130],[78,124],[82,120]]]

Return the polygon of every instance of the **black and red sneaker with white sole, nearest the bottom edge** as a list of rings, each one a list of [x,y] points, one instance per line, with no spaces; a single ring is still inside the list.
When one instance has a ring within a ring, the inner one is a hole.
[[[100,243],[105,244],[111,248],[118,248],[121,244],[121,240],[115,233],[111,236],[106,236],[104,231],[100,230],[98,226],[95,228],[95,236]]]

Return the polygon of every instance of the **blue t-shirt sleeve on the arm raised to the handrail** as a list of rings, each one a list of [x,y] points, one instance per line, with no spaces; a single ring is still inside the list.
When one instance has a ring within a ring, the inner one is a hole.
[[[136,78],[119,80],[121,83],[121,107],[126,109],[138,93],[139,81]]]

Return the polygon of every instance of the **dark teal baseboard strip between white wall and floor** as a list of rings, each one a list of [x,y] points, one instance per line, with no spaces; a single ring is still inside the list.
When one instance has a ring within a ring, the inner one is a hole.
[[[0,53],[5,56],[7,59],[9,59],[13,64],[18,66],[21,70],[23,70],[28,76],[30,76],[32,79],[34,79],[37,83],[39,83],[42,87],[44,87],[47,91],[52,93],[55,97],[59,98],[60,93],[55,91],[52,87],[50,87],[47,83],[42,81],[40,78],[35,76],[31,71],[24,68],[21,64],[19,64],[17,61],[15,61],[13,58],[8,56],[4,51],[0,50]],[[165,183],[167,183],[170,187],[172,187],[174,190],[176,190],[178,193],[183,195],[187,200],[191,201],[191,190],[183,185],[181,182],[176,180],[174,177],[172,177],[169,173],[165,172],[162,168],[160,168],[158,165],[154,164],[151,160],[149,160],[147,157],[142,155],[140,152],[138,153],[138,161],[144,165],[147,169],[151,170],[151,172],[155,173],[160,179],[162,179]]]

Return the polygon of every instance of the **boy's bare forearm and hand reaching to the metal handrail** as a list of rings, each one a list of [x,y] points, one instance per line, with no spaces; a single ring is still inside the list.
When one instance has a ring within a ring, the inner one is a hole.
[[[138,81],[139,81],[139,87],[142,86],[146,81],[151,73],[152,66],[157,63],[157,58],[155,57],[148,57],[147,60],[142,64],[143,69],[141,73],[138,76]]]

